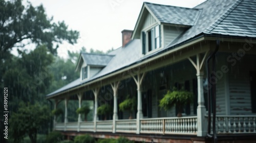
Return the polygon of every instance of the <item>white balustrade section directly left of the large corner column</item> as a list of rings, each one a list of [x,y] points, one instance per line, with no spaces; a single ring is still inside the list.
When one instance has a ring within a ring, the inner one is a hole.
[[[141,133],[196,134],[197,117],[141,119]]]

